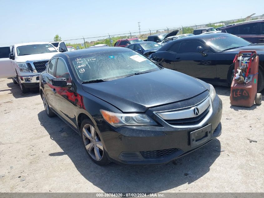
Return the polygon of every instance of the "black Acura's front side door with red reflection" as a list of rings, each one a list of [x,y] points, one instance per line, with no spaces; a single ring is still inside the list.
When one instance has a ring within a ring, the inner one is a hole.
[[[54,76],[56,78],[64,77],[67,79],[67,86],[53,88],[54,101],[56,101],[54,109],[63,119],[77,129],[75,107],[80,102],[81,97],[73,91],[72,78],[66,62],[61,57],[58,57]]]

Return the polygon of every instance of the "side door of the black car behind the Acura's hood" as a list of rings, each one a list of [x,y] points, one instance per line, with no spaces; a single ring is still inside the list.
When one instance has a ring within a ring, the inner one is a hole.
[[[204,53],[197,51],[198,46]],[[201,79],[217,77],[214,53],[200,41],[182,41],[174,57],[174,67],[178,72]]]

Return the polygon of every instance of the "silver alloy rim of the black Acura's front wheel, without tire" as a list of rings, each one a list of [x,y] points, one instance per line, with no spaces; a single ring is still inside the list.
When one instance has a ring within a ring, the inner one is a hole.
[[[102,141],[92,125],[84,125],[82,129],[82,140],[89,155],[96,161],[102,160],[104,150]]]

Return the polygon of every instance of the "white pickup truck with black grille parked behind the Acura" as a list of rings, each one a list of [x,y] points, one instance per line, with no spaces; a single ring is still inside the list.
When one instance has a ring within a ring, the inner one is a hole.
[[[44,42],[15,44],[7,56],[8,52],[10,47],[0,47],[0,78],[12,78],[22,93],[39,87],[39,74],[46,69],[49,59],[59,53],[51,43]]]

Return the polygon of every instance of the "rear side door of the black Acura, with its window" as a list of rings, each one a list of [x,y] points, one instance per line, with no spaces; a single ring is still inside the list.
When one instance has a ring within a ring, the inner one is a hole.
[[[55,68],[55,64],[57,62],[57,58],[52,58],[48,64],[47,64],[47,72],[45,72],[44,74],[42,74],[42,85],[43,85],[43,91],[44,94],[46,96],[47,102],[49,104],[49,106],[54,109],[54,106],[56,104],[54,104],[54,93],[53,93],[53,89],[54,86],[52,85],[52,79],[54,79],[54,68]]]

